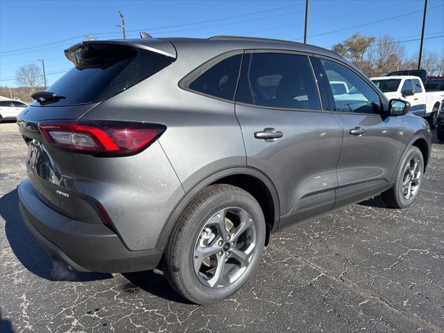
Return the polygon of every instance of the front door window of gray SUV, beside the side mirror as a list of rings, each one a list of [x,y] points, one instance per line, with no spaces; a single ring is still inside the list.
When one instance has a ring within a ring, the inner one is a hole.
[[[321,59],[321,64],[330,83],[336,111],[370,114],[380,112],[379,95],[366,81],[337,62]],[[346,89],[333,89],[339,83]]]

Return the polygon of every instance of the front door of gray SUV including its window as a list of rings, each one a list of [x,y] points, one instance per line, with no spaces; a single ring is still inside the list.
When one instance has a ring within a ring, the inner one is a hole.
[[[343,126],[343,148],[337,173],[336,207],[355,203],[391,187],[398,167],[402,127],[398,117],[384,114],[387,106],[357,71],[336,60],[318,58],[323,77],[341,80],[348,94],[330,96],[330,108]]]

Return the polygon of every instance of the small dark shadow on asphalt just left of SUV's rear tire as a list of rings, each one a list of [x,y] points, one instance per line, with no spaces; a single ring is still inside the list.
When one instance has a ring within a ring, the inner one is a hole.
[[[144,271],[123,273],[122,275],[128,280],[128,284],[123,285],[122,288],[125,292],[132,293],[137,291],[137,289],[142,289],[147,293],[164,298],[165,300],[182,304],[194,304],[180,296],[180,294],[170,286],[162,273],[157,274],[154,271]]]

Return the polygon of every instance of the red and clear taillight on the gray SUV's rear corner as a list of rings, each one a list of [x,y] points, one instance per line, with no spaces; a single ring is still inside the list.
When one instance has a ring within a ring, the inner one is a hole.
[[[41,121],[39,128],[53,146],[100,156],[139,153],[167,129],[161,124],[128,121]]]

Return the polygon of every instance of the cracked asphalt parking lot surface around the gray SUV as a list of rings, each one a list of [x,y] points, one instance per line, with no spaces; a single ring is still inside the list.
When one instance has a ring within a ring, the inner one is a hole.
[[[379,197],[274,234],[253,280],[200,307],[163,275],[71,272],[19,215],[26,144],[0,124],[0,332],[444,332],[444,144],[407,210]]]

